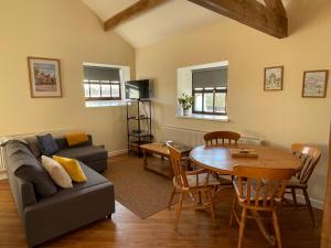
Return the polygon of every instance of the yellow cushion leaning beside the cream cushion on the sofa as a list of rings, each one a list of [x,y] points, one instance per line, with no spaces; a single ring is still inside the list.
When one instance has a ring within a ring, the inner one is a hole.
[[[57,157],[57,155],[53,155],[53,160],[55,160],[65,169],[65,171],[70,174],[70,176],[74,182],[84,183],[87,181],[87,177],[84,174],[77,160]]]

